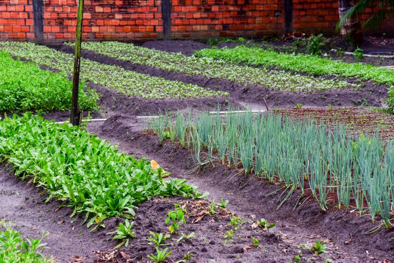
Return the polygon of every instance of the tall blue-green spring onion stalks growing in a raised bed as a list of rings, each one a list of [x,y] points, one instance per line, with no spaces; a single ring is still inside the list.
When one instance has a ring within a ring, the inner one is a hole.
[[[155,124],[161,118],[151,119],[147,129],[168,130]],[[190,140],[197,164],[235,169],[241,165],[247,174],[279,181],[284,185],[282,204],[298,189],[300,197],[314,197],[323,210],[330,205],[355,208],[360,215],[369,213],[372,220],[379,215],[387,228],[392,225],[393,140],[383,143],[377,132],[348,136],[345,124],[300,121],[275,113],[247,111],[222,117],[203,112],[184,118],[185,139]],[[330,195],[338,201],[333,203]]]

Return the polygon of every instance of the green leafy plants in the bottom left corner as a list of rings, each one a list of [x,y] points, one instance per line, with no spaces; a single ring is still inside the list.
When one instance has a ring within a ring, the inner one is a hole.
[[[4,220],[0,220],[0,262],[53,262],[52,259],[48,259],[40,253],[46,245],[42,243],[42,239],[46,236],[45,232],[38,239],[23,238],[22,234],[13,230],[11,225]]]

